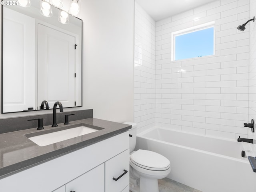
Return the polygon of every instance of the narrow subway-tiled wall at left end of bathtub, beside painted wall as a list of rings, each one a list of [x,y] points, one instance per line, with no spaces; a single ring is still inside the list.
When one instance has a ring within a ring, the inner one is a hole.
[[[135,3],[134,122],[138,132],[155,125],[156,22]]]

